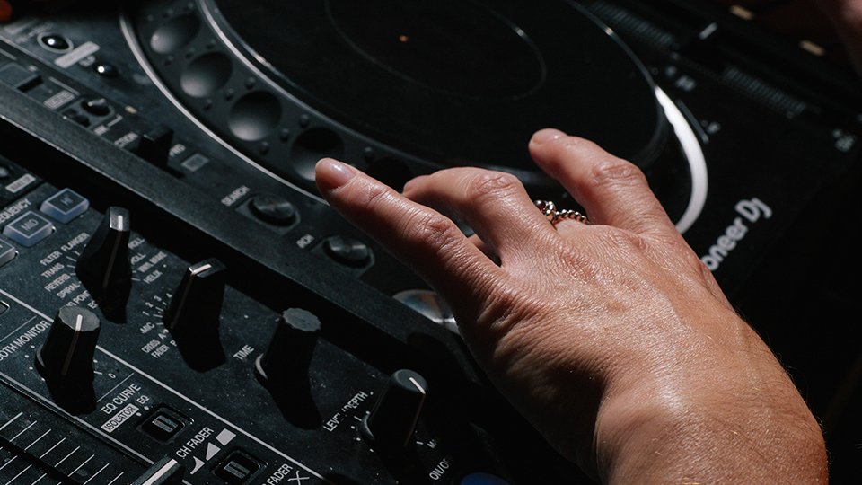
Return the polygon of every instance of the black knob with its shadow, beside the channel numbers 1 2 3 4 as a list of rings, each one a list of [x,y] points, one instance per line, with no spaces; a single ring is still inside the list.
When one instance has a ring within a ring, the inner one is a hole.
[[[164,313],[164,325],[180,354],[191,368],[201,372],[225,361],[218,328],[226,273],[224,264],[216,259],[190,266]]]

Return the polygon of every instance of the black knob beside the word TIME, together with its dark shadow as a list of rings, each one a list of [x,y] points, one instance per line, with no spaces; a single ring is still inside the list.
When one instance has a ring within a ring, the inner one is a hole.
[[[254,363],[255,372],[278,409],[295,426],[314,429],[322,419],[312,399],[308,367],[321,334],[314,314],[292,308],[278,318],[267,351]]]

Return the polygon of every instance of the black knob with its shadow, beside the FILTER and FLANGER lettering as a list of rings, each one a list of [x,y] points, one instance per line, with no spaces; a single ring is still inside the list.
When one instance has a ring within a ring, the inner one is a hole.
[[[122,207],[108,207],[101,224],[78,257],[75,272],[102,313],[114,322],[126,321],[132,287],[128,259],[129,216]]]

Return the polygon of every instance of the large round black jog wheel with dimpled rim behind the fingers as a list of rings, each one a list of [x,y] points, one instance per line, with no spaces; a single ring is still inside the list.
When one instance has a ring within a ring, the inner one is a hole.
[[[537,198],[559,197],[526,151],[533,132],[553,127],[645,169],[658,160],[662,172],[682,174],[655,178],[673,187],[657,191],[675,220],[692,204],[688,219],[699,212],[690,161],[646,67],[577,4],[176,5],[134,21],[158,82],[219,137],[303,188],[313,189],[314,163],[332,156],[396,188],[477,165],[515,173]]]

